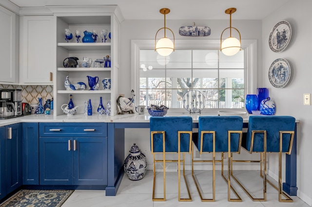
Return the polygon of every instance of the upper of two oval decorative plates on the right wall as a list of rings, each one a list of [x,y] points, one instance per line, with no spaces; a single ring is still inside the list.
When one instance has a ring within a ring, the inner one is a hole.
[[[292,28],[287,21],[280,21],[271,30],[269,46],[273,52],[283,51],[292,37]]]

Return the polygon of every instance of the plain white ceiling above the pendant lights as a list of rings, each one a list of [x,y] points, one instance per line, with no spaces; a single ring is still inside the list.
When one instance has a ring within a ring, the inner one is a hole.
[[[125,19],[229,19],[224,11],[235,7],[233,19],[263,19],[289,0],[9,0],[19,7],[52,5],[118,5]]]

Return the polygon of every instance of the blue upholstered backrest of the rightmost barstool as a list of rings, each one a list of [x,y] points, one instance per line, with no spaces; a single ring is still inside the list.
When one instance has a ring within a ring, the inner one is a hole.
[[[279,132],[294,131],[295,118],[291,116],[250,116],[246,140],[243,138],[242,147],[249,152],[263,152],[263,133],[254,134],[253,149],[252,131],[265,130],[267,134],[267,152],[279,152]],[[283,134],[282,152],[289,152],[291,135]]]

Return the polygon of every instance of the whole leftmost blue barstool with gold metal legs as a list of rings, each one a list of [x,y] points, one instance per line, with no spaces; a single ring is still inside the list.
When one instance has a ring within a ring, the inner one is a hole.
[[[185,153],[191,154],[192,146],[192,117],[151,117],[150,132],[151,132],[151,152],[154,155],[154,181],[153,181],[153,201],[166,201],[166,162],[177,162],[178,166],[178,200],[192,201],[191,193],[185,179],[184,160]],[[167,160],[166,153],[177,153],[177,160]],[[162,159],[156,160],[155,155],[162,154]],[[183,154],[181,160],[180,154]],[[155,198],[155,164],[156,162],[163,163],[163,198]],[[181,198],[180,195],[180,164],[183,163],[183,177],[189,198]]]

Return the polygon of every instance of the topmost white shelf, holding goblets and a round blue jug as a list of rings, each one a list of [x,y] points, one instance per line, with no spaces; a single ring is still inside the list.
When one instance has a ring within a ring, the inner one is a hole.
[[[71,51],[111,50],[111,43],[58,43],[58,46]]]

